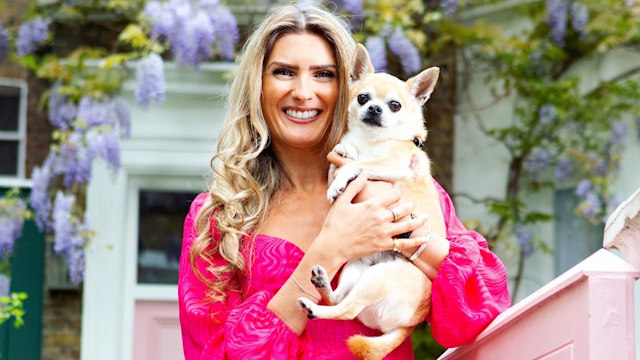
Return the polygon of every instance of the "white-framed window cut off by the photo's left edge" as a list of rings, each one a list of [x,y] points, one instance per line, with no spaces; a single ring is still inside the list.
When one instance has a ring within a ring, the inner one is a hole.
[[[0,79],[0,178],[24,178],[27,86]]]

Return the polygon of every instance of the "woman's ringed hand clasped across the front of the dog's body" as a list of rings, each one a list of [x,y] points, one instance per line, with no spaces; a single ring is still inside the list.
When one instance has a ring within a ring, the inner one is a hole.
[[[351,259],[393,249],[393,237],[413,231],[426,221],[426,218],[408,217],[413,211],[413,204],[398,204],[400,191],[391,184],[384,186],[386,191],[366,194],[366,199],[355,202],[356,197],[364,195],[362,192],[371,183],[363,172],[347,186],[331,206],[320,234],[309,249],[324,253],[330,258],[327,259],[331,260],[333,267],[327,269],[330,272],[337,271]],[[404,217],[407,220],[396,221]],[[395,245],[402,250],[415,248],[423,241],[397,239]]]

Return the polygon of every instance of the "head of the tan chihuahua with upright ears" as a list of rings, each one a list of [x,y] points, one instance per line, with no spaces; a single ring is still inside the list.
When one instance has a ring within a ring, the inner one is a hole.
[[[432,67],[406,82],[374,73],[367,49],[358,44],[351,70],[349,130],[382,139],[424,142],[422,106],[436,86],[440,70]],[[384,131],[380,131],[384,129]]]

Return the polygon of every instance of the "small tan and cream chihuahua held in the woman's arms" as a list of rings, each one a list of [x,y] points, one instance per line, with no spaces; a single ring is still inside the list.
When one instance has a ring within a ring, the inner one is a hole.
[[[399,184],[401,202],[415,203],[414,213],[428,215],[426,227],[445,236],[438,192],[430,161],[421,149],[427,137],[422,106],[429,99],[439,69],[422,71],[407,82],[389,74],[374,74],[367,50],[358,45],[353,61],[352,101],[348,131],[334,151],[355,161],[344,165],[327,191],[335,200],[363,170],[369,179]],[[312,283],[327,306],[299,298],[309,318],[358,319],[384,334],[355,335],[347,340],[358,359],[382,359],[411,334],[429,312],[431,281],[398,252],[385,251],[349,261],[331,289],[326,271],[316,265]]]

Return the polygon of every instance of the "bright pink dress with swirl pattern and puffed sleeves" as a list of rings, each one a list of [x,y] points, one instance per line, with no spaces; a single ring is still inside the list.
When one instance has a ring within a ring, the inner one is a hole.
[[[436,186],[451,248],[433,281],[427,321],[431,323],[436,341],[454,347],[472,342],[510,306],[511,297],[502,262],[489,251],[481,235],[464,228],[451,199],[444,189]],[[195,198],[184,223],[178,296],[187,360],[353,359],[345,344],[349,336],[380,334],[358,320],[314,319],[307,323],[302,335],[291,331],[267,309],[267,303],[289,278],[304,253],[284,239],[266,235],[254,237],[250,277],[241,292],[229,292],[224,303],[207,302],[206,286],[195,276],[188,260],[189,249],[196,238],[195,218],[207,196],[203,193]],[[243,255],[248,258],[246,252]],[[223,263],[217,256],[213,261]],[[203,263],[197,266],[206,274]],[[385,359],[413,358],[408,338]]]

